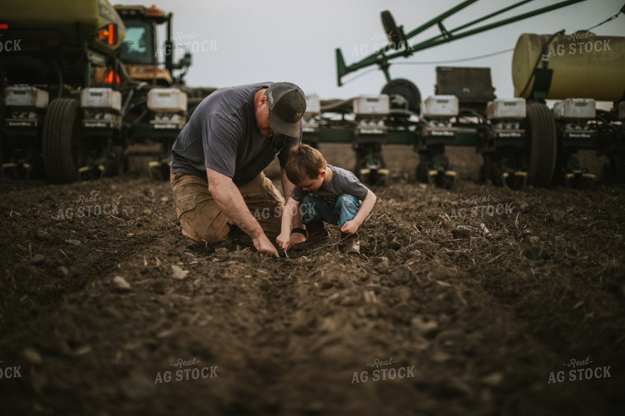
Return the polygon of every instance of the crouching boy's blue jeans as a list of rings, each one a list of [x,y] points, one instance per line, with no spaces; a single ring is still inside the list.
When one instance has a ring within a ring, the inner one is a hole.
[[[338,198],[336,204],[332,206],[328,202],[310,196],[307,193],[303,196],[299,205],[301,222],[308,224],[322,218],[326,223],[342,227],[347,221],[353,220],[353,217],[358,214],[358,209],[360,209],[362,203],[355,196],[344,193]]]

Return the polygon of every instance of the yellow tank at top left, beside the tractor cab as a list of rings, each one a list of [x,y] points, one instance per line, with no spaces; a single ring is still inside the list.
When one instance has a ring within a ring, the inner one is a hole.
[[[0,17],[8,25],[12,36],[21,38],[22,44],[29,42],[49,42],[63,37],[58,31],[49,29],[21,30],[18,25],[54,25],[59,26],[67,40],[75,42],[76,23],[81,24],[81,31],[92,49],[111,53],[124,42],[126,26],[115,8],[107,0],[24,0],[0,1]],[[108,24],[117,25],[117,40],[108,44],[108,39],[100,39],[98,31]],[[19,33],[17,33],[19,32]]]

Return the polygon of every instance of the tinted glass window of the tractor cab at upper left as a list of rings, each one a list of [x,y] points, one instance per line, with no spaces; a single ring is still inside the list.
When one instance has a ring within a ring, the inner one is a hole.
[[[128,19],[126,39],[119,52],[122,62],[154,64],[154,28],[150,21]]]

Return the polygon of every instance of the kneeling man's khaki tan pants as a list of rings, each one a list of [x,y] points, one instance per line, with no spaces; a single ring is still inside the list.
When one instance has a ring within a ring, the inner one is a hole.
[[[230,231],[228,216],[211,195],[208,179],[184,173],[172,173],[169,179],[183,236],[193,244],[225,240]],[[276,241],[284,209],[281,193],[263,172],[238,189],[269,241]]]

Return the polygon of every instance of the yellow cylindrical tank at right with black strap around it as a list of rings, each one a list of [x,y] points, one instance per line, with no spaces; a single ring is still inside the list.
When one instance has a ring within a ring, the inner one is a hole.
[[[531,77],[536,60],[552,35],[523,33],[512,56],[515,96]],[[549,69],[553,69],[547,98],[594,98],[619,101],[625,95],[625,37],[597,36],[590,32],[557,35],[547,46]],[[542,68],[542,62],[539,67]],[[529,98],[534,80],[523,94]]]

